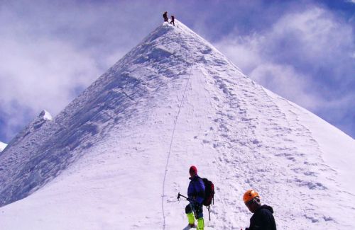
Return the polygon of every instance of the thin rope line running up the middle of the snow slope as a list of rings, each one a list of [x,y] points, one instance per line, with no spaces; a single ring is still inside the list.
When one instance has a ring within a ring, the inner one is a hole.
[[[169,151],[168,151],[168,157],[166,159],[166,164],[165,164],[165,173],[164,173],[164,179],[163,179],[163,195],[161,196],[161,209],[163,211],[163,229],[164,230],[165,230],[165,210],[164,210],[165,179],[166,179],[166,176],[167,176],[167,173],[168,173],[168,164],[169,164],[169,159],[170,159],[171,146],[173,146],[173,140],[174,140],[176,124],[178,123],[178,118],[179,118],[179,115],[180,115],[180,109],[182,108],[182,103],[184,102],[184,99],[185,99],[186,89],[187,89],[187,86],[188,86],[188,84],[190,82],[190,78],[191,78],[192,65],[193,64],[191,64],[191,66],[190,66],[190,73],[189,73],[189,76],[187,78],[187,82],[186,82],[186,85],[185,85],[184,93],[182,93],[182,99],[180,101],[178,114],[175,116],[173,134],[171,135],[170,146],[169,146]]]

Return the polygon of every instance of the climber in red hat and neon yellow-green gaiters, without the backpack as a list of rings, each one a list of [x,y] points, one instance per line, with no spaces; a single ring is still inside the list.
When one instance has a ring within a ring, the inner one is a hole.
[[[204,183],[200,176],[197,176],[196,166],[191,166],[190,170],[190,184],[187,188],[187,196],[189,205],[185,207],[185,213],[191,228],[195,227],[195,218],[197,219],[197,229],[204,229],[202,202],[204,201]],[[195,214],[195,215],[194,215]]]

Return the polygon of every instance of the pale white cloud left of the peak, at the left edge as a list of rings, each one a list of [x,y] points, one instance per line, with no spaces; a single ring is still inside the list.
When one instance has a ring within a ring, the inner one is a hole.
[[[0,42],[1,107],[13,100],[40,111],[58,113],[99,71],[94,59],[69,44],[53,40]],[[55,101],[55,103],[53,103]]]

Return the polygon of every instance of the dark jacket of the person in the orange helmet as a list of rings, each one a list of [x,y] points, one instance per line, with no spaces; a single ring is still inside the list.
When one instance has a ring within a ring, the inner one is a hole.
[[[247,230],[276,230],[273,208],[262,205],[250,219],[250,226]]]

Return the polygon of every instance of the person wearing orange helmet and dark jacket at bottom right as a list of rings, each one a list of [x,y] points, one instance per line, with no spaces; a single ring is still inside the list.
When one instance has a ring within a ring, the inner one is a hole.
[[[276,230],[273,208],[268,205],[261,205],[258,192],[255,190],[246,191],[243,201],[249,211],[253,213],[250,226],[246,230]]]

